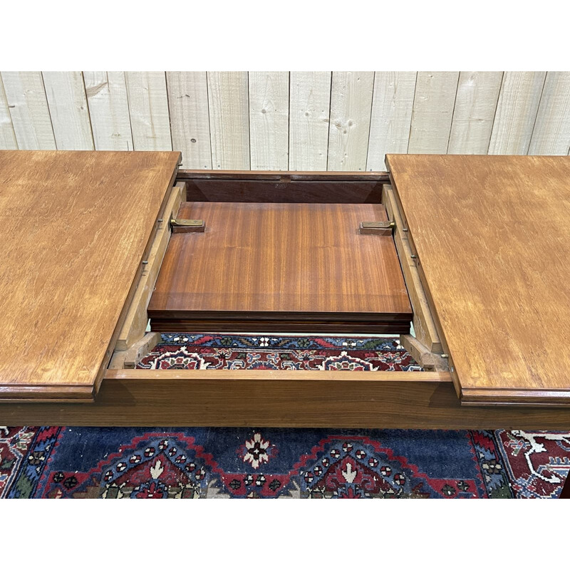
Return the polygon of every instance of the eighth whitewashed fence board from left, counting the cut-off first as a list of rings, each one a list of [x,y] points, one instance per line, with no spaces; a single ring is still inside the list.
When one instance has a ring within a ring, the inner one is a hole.
[[[252,170],[289,167],[289,73],[249,72]]]

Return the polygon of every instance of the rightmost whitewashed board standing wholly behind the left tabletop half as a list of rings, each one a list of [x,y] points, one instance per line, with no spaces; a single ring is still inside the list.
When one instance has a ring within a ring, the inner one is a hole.
[[[130,127],[135,150],[172,150],[164,71],[127,71]]]

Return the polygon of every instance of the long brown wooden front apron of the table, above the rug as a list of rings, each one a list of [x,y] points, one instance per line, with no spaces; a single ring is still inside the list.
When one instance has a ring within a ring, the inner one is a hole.
[[[93,404],[0,403],[0,423],[561,430],[570,410],[461,407],[442,373],[123,370]]]

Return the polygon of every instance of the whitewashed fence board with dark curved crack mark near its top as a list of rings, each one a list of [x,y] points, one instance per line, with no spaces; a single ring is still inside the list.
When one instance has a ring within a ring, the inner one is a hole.
[[[96,150],[133,150],[123,71],[83,71]]]

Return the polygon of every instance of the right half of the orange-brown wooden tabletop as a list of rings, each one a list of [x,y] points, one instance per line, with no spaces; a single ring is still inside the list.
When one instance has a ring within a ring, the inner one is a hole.
[[[387,164],[463,403],[570,403],[570,158]]]

